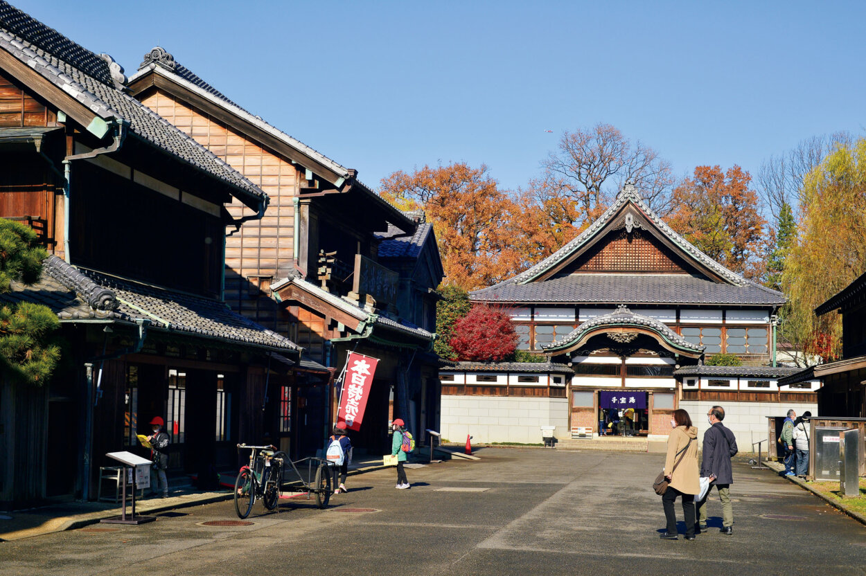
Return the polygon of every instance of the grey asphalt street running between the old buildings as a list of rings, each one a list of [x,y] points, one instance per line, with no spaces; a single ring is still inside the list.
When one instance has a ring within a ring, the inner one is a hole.
[[[0,543],[0,573],[23,574],[866,574],[866,527],[770,470],[734,464],[734,534],[662,541],[650,489],[662,455],[488,448],[349,477],[329,509],[232,502],[178,509],[140,526],[87,528]],[[354,510],[353,510],[354,509]],[[365,511],[372,510],[372,511]],[[677,502],[680,532],[682,508]],[[779,517],[773,517],[779,516]]]

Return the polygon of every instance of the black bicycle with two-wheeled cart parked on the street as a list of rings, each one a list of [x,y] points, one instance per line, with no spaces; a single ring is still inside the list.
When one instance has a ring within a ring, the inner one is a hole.
[[[239,518],[246,518],[259,498],[268,510],[276,508],[282,496],[283,473],[291,466],[298,481],[307,490],[307,500],[316,496],[316,503],[324,509],[333,493],[331,476],[333,467],[322,458],[303,458],[297,462],[288,459],[288,454],[276,451],[276,446],[237,445],[238,451],[249,450],[249,464],[242,466],[235,481],[235,511]],[[295,464],[307,462],[307,481]],[[318,463],[313,477],[313,464]]]

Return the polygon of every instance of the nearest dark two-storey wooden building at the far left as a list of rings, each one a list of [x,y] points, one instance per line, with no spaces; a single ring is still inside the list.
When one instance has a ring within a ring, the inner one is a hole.
[[[122,72],[0,2],[0,216],[52,254],[0,304],[48,305],[67,341],[45,386],[0,382],[4,504],[94,497],[104,454],[137,450],[155,416],[170,472],[210,482],[268,432],[268,379],[301,362],[222,300],[224,231],[242,223],[224,205],[262,214],[268,196],[129,96]]]

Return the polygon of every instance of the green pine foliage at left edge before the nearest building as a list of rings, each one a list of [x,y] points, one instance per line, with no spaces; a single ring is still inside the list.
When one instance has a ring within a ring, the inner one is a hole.
[[[11,291],[13,281],[29,285],[39,280],[48,253],[37,240],[29,227],[0,218],[0,294]],[[0,306],[0,372],[42,386],[60,359],[60,347],[50,342],[58,328],[60,321],[48,306]]]

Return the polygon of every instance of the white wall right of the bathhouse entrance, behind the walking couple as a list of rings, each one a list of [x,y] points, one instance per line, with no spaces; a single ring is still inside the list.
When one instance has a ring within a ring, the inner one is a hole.
[[[818,416],[818,403],[796,403],[779,404],[778,402],[714,402],[712,400],[680,400],[680,407],[688,412],[692,418],[692,424],[698,427],[698,441],[703,442],[703,433],[709,427],[707,413],[713,406],[721,406],[725,409],[725,419],[722,423],[734,432],[737,438],[737,447],[740,452],[751,452],[752,443],[767,439],[766,417],[785,416],[789,408],[793,408],[797,414],[806,410],[812,416]],[[775,442],[776,438],[772,438]],[[761,445],[761,451],[766,454],[767,442]],[[755,446],[754,451],[758,451]]]

